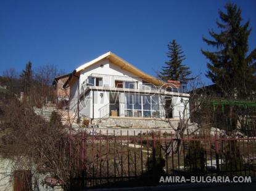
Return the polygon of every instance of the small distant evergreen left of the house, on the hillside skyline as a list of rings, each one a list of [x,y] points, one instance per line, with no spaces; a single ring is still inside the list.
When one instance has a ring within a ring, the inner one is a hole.
[[[26,68],[23,69],[22,74],[20,74],[20,78],[22,80],[22,89],[25,95],[28,95],[31,88],[32,82],[32,63],[29,61],[26,64]]]

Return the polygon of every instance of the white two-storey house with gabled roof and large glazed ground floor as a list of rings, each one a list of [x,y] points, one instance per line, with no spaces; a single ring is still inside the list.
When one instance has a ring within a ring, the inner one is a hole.
[[[189,94],[107,52],[76,68],[65,82],[70,110],[79,117],[180,118],[189,115]],[[171,110],[166,112],[165,108]],[[186,111],[186,112],[183,112]]]

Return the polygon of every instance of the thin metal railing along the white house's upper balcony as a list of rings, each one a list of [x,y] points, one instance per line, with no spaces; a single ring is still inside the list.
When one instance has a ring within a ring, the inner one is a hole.
[[[147,82],[149,79],[143,79],[139,77],[128,77],[128,76],[114,76],[107,74],[91,74],[82,83],[82,87],[85,89],[87,87],[115,87],[115,88],[130,88],[136,90],[160,90],[160,88],[165,88],[161,86],[156,86]],[[165,88],[168,92],[180,92],[183,93],[183,88]]]

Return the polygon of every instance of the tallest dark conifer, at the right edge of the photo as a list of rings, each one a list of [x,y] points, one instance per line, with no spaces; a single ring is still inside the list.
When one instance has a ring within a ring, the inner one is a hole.
[[[219,11],[219,33],[209,32],[213,40],[203,37],[207,45],[217,49],[214,52],[201,50],[207,63],[206,76],[219,87],[226,98],[249,98],[255,91],[256,49],[248,53],[249,21],[242,25],[241,9],[228,3],[226,13]]]

